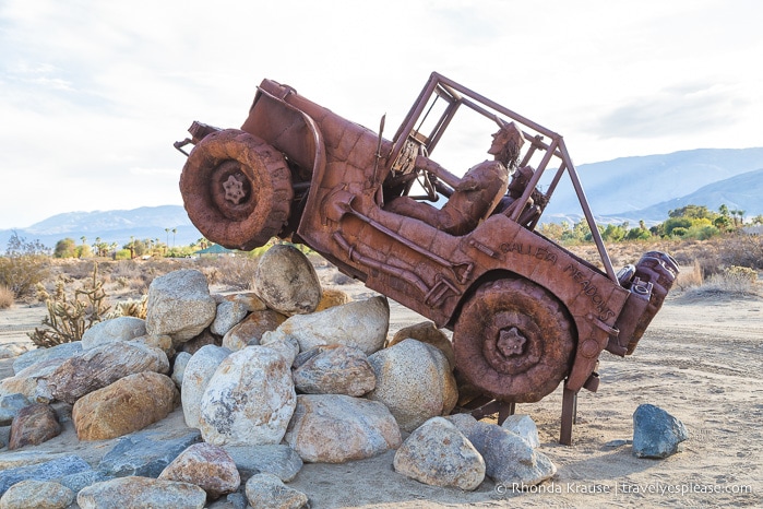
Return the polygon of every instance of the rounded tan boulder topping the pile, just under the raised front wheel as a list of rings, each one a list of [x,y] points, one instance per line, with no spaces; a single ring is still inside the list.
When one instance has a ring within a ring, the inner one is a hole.
[[[257,294],[283,315],[308,313],[321,301],[321,283],[310,260],[297,248],[277,245],[261,258],[254,274]]]

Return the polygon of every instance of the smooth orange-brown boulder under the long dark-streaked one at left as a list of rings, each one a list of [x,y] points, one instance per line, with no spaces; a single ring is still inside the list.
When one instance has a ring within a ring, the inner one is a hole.
[[[130,375],[74,403],[76,436],[80,440],[104,440],[143,429],[165,418],[179,396],[166,375]]]

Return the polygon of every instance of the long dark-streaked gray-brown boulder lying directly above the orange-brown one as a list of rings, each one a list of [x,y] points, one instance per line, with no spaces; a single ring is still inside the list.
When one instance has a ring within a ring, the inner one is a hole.
[[[48,388],[55,399],[74,404],[85,394],[144,371],[168,372],[167,354],[145,344],[118,341],[64,360],[48,377]]]

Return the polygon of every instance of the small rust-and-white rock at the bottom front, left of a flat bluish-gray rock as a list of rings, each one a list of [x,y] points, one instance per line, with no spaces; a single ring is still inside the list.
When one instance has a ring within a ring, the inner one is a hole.
[[[225,449],[212,443],[194,443],[162,471],[160,480],[191,483],[210,498],[234,493],[241,484],[236,463]]]

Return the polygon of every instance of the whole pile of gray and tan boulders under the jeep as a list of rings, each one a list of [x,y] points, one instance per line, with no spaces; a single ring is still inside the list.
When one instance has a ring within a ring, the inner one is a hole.
[[[0,506],[296,508],[308,495],[287,484],[303,462],[388,450],[402,475],[464,490],[555,474],[529,417],[449,415],[455,363],[433,323],[388,338],[384,297],[323,289],[289,245],[261,258],[254,283],[213,295],[200,271],[175,271],[151,284],[145,320],[115,318],[19,356],[0,381]],[[187,427],[145,429],[178,404]],[[65,419],[80,441],[120,438],[97,465],[23,450]]]

